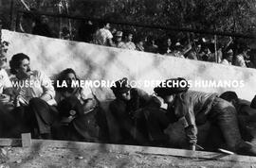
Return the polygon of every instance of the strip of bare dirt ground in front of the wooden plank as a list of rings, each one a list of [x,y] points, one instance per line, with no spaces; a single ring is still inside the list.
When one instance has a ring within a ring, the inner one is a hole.
[[[35,146],[36,147],[36,146]],[[77,148],[42,147],[38,149],[5,147],[8,160],[0,168],[42,167],[42,168],[256,168],[256,162],[232,162],[225,160],[188,159],[172,156],[146,155],[139,153],[99,152],[98,150],[78,150]]]

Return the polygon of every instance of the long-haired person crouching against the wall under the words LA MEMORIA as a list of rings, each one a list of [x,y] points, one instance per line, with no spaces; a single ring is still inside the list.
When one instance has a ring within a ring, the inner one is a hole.
[[[67,68],[57,78],[57,82],[66,87],[56,88],[56,101],[60,116],[70,118],[68,126],[60,130],[66,134],[57,137],[64,140],[101,142],[108,141],[108,126],[100,102],[90,88],[72,86],[79,81],[75,71]],[[73,82],[73,84],[72,84]],[[56,82],[55,82],[56,83]],[[60,126],[61,128],[64,126]],[[55,127],[59,128],[59,126]],[[58,130],[58,129],[57,129]],[[56,134],[60,133],[56,131]],[[61,134],[59,134],[61,135]]]

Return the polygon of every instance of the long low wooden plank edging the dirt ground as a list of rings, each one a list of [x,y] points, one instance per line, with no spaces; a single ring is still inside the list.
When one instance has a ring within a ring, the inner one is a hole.
[[[13,139],[0,139],[0,146],[2,142],[11,144]],[[9,143],[8,143],[9,142]],[[165,155],[183,158],[195,158],[206,160],[227,160],[236,162],[256,163],[256,157],[248,157],[241,155],[227,155],[216,152],[191,151],[184,149],[163,148],[163,147],[149,147],[149,146],[135,146],[135,145],[120,145],[120,144],[104,144],[104,143],[82,143],[82,142],[67,142],[67,141],[50,141],[50,140],[32,140],[31,150],[33,147],[38,149],[41,147],[56,147],[77,150],[99,150],[99,152],[115,152],[115,153],[139,153],[152,155]]]

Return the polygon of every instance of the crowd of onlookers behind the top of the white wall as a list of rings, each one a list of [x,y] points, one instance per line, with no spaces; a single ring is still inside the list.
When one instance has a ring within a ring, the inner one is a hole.
[[[229,37],[229,41],[214,42],[214,38],[194,33],[184,37],[165,38],[137,35],[133,31],[122,31],[109,23],[82,22],[76,31],[67,26],[54,35],[46,16],[36,17],[31,33],[46,37],[59,37],[64,40],[90,42],[122,49],[144,51],[182,59],[217,62],[225,65],[256,68],[256,50],[247,42]],[[135,35],[139,37],[134,37]]]

